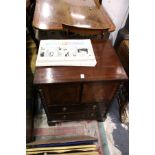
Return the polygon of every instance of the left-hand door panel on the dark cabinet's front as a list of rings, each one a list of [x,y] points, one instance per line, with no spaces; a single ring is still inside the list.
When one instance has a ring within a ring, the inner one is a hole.
[[[45,104],[77,104],[80,99],[80,84],[52,84],[41,86]]]

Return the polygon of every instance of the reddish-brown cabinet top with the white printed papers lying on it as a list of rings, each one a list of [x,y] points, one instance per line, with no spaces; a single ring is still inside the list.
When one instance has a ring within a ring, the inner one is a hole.
[[[92,40],[95,67],[36,67],[34,84],[127,80],[125,70],[109,40]],[[81,78],[81,74],[84,78]]]

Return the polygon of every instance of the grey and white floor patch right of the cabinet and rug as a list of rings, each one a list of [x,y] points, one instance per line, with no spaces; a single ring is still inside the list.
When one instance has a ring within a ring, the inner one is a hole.
[[[110,155],[129,154],[129,123],[120,122],[117,101],[111,105],[104,122]]]

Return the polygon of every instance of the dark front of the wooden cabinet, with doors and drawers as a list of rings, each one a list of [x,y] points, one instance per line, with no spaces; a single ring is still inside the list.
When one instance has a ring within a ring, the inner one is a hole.
[[[51,125],[53,122],[73,120],[103,121],[119,85],[119,81],[76,82],[68,83],[68,86],[42,84],[38,88],[48,124]]]

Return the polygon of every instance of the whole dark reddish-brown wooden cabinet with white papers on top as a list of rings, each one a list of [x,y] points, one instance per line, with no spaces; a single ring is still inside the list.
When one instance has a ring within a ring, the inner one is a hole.
[[[92,46],[95,67],[36,68],[34,84],[40,90],[49,125],[72,120],[103,121],[121,83],[127,80],[110,41],[92,40]]]

